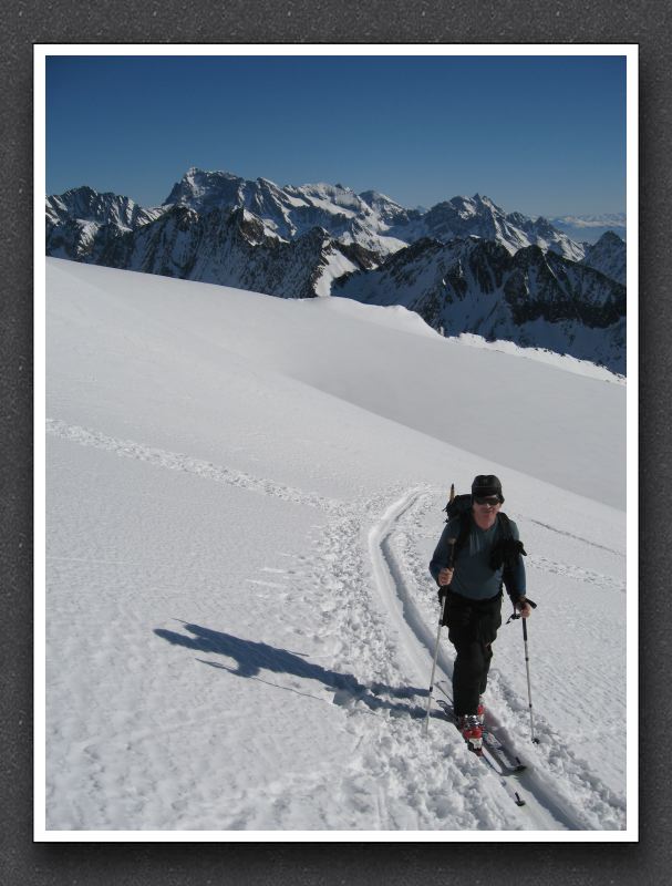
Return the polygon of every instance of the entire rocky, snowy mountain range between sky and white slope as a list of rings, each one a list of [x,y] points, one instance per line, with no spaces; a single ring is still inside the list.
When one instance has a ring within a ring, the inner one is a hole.
[[[86,186],[48,197],[46,254],[282,298],[404,305],[445,334],[624,372],[624,241],[578,243],[478,194],[406,209],[340,184],[279,187],[190,168],[158,207]]]

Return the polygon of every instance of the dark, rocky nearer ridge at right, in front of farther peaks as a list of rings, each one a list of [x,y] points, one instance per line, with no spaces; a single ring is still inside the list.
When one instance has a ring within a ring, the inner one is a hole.
[[[510,255],[475,237],[418,240],[332,295],[403,305],[446,336],[548,348],[626,372],[626,289],[586,265],[529,246]]]

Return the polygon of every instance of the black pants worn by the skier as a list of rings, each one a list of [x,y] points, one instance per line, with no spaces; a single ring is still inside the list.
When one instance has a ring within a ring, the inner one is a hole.
[[[469,600],[448,591],[443,624],[448,626],[448,639],[457,652],[453,669],[455,715],[476,713],[502,625],[502,591],[487,600]]]

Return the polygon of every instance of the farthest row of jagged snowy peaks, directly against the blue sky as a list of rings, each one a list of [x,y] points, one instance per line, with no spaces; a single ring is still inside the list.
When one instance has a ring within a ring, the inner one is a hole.
[[[106,205],[111,206],[108,214],[103,212]],[[488,197],[478,194],[473,198],[454,197],[422,214],[417,209],[405,209],[375,190],[355,194],[340,184],[279,187],[267,178],[252,182],[227,172],[193,167],[173,187],[162,207],[144,210],[144,215],[138,209],[131,218],[130,212],[121,213],[117,205],[135,206],[126,197],[96,195],[87,187],[68,192],[62,197],[50,197],[49,234],[53,233],[54,225],[77,220],[89,227],[112,224],[124,229],[135,228],[173,206],[183,206],[198,216],[213,210],[245,208],[260,220],[267,237],[287,243],[320,227],[340,244],[362,247],[379,260],[421,237],[447,243],[455,237],[478,236],[500,243],[511,254],[526,246],[539,246],[572,260],[581,259],[585,251],[581,245],[572,243],[545,219],[533,222],[520,213],[507,215]],[[54,206],[63,206],[68,212],[56,214]],[[48,240],[49,255],[80,258],[76,248],[68,249],[65,240],[61,254],[49,251],[50,248]],[[89,253],[89,257],[99,264],[95,250]]]

